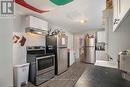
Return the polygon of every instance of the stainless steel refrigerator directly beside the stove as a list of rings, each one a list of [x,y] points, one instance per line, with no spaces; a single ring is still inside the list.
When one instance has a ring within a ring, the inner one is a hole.
[[[46,52],[55,54],[55,74],[68,68],[68,37],[66,35],[46,36]]]

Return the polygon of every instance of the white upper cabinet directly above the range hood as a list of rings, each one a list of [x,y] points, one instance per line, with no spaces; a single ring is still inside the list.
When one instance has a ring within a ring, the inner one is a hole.
[[[48,22],[33,17],[33,16],[27,16],[26,18],[26,27],[41,29],[41,30],[48,30]]]

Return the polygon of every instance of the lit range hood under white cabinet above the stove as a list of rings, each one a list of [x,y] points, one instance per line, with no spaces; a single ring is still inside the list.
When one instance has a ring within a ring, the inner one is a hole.
[[[48,34],[47,31],[45,31],[45,30],[41,30],[41,29],[38,29],[38,28],[32,28],[32,27],[27,27],[25,29],[25,32],[26,33],[30,32],[30,33],[33,33],[33,34],[44,35],[44,36]]]

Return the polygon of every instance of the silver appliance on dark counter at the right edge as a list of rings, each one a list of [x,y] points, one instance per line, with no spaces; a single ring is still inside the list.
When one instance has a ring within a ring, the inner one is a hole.
[[[122,71],[122,77],[130,81],[130,50],[119,53],[118,68]]]

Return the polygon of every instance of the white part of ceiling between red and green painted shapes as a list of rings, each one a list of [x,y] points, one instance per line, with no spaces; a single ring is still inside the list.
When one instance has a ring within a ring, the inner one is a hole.
[[[55,6],[50,12],[42,14],[16,5],[16,11],[43,17],[54,25],[65,27],[72,33],[78,33],[104,28],[102,11],[105,9],[105,2],[106,0],[74,0],[63,6]],[[80,23],[80,20],[85,20],[85,23]]]

